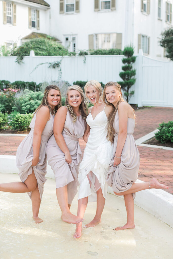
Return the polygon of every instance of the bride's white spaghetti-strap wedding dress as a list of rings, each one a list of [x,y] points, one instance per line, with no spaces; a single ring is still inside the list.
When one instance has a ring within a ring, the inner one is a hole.
[[[90,127],[90,135],[79,167],[81,185],[78,200],[88,197],[89,202],[95,202],[97,200],[96,191],[100,187],[103,197],[106,199],[106,175],[113,155],[113,145],[106,138],[108,119],[105,108],[96,115],[95,119],[90,111],[86,121]]]

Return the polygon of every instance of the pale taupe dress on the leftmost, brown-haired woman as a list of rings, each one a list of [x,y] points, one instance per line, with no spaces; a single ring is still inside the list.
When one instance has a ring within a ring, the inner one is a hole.
[[[16,166],[19,169],[19,177],[22,182],[25,182],[27,177],[32,174],[32,169],[34,170],[34,174],[37,179],[38,190],[40,193],[40,199],[43,195],[43,186],[46,182],[45,174],[46,174],[46,145],[47,141],[49,140],[50,136],[53,134],[53,120],[54,115],[50,113],[50,119],[47,121],[46,126],[41,134],[41,143],[40,143],[40,151],[39,151],[39,163],[37,166],[32,165],[33,159],[33,133],[34,133],[34,126],[36,121],[36,114],[34,114],[31,123],[30,133],[22,140],[20,143],[17,153],[16,153]],[[28,192],[29,197],[31,198],[31,192]]]

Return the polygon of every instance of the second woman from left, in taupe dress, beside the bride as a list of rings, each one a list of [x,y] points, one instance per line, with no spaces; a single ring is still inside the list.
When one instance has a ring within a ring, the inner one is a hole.
[[[77,193],[81,149],[79,138],[86,130],[86,105],[81,87],[68,88],[66,106],[60,107],[54,119],[54,135],[47,143],[47,160],[56,181],[56,194],[62,212],[61,218],[67,223],[83,221],[73,215],[70,207]]]

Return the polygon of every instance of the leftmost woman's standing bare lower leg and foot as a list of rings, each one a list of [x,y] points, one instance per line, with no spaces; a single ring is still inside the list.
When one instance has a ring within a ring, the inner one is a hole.
[[[32,214],[33,214],[32,217],[35,220],[36,224],[39,224],[43,222],[43,220],[38,217],[40,203],[41,203],[38,185],[36,189],[31,193],[31,201],[32,201]]]

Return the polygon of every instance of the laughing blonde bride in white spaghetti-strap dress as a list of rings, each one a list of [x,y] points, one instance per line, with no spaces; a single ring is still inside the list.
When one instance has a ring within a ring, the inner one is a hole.
[[[94,105],[88,109],[87,130],[83,136],[86,144],[84,157],[79,167],[79,197],[78,217],[83,218],[87,203],[97,201],[97,209],[94,219],[87,227],[94,227],[101,222],[101,214],[105,206],[107,183],[105,176],[108,172],[109,162],[112,158],[113,146],[106,139],[108,116],[112,107],[102,101],[101,84],[92,80],[86,83],[86,99]],[[76,224],[74,238],[80,238],[82,222]]]

